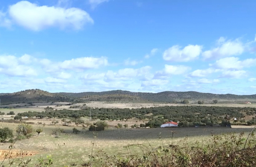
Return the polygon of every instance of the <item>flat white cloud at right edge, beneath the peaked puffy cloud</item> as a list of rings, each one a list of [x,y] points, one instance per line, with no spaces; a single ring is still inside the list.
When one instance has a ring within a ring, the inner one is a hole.
[[[213,64],[213,66],[220,69],[240,70],[244,67],[251,67],[254,64],[256,64],[256,59],[250,58],[250,59],[245,59],[243,61],[239,61],[239,58],[228,57],[228,58],[222,58],[217,60],[216,63]]]

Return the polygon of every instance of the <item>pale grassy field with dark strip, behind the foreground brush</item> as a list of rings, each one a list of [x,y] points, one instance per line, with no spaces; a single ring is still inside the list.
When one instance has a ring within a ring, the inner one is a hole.
[[[17,124],[2,123],[2,127],[15,129]],[[33,125],[34,129],[39,125]],[[144,145],[147,148],[157,148],[160,145],[173,144],[183,145],[184,139],[187,138],[189,143],[207,142],[211,135],[220,133],[249,133],[251,129],[231,129],[228,127],[192,127],[192,128],[156,128],[156,129],[107,129],[102,132],[89,132],[88,129],[77,127],[80,134],[72,133],[73,127],[61,126],[65,132],[60,133],[57,137],[51,135],[52,130],[58,126],[45,126],[43,133],[33,138],[17,141],[14,144],[15,149],[24,151],[37,151],[31,156],[31,164],[38,163],[40,157],[46,158],[51,155],[54,166],[71,165],[72,163],[82,164],[89,160],[90,155],[99,154],[104,156],[122,154],[126,155],[131,152],[141,153],[141,147],[129,147],[127,145]],[[94,143],[94,145],[93,145]],[[10,144],[1,144],[2,150],[8,150]],[[33,165],[31,165],[33,166]]]

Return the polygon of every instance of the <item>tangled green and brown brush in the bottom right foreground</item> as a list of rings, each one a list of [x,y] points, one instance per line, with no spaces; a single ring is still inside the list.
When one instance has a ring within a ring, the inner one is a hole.
[[[160,139],[161,140],[161,139]],[[127,150],[139,148],[142,153],[117,154],[107,153],[94,155],[87,166],[256,166],[256,139],[254,133],[245,136],[236,135],[212,136],[209,140],[187,144],[161,144],[152,148],[142,144],[127,145]],[[97,157],[97,158],[95,158]]]

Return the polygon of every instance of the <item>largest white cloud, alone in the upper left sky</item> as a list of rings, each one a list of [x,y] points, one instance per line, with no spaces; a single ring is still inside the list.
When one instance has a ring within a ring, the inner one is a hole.
[[[28,1],[10,5],[8,14],[13,22],[33,31],[49,27],[81,29],[86,23],[93,23],[90,15],[79,8],[38,6]]]

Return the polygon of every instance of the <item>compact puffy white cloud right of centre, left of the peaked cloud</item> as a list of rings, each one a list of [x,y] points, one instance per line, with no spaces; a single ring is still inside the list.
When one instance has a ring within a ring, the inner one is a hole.
[[[180,61],[186,62],[198,58],[202,52],[202,46],[189,44],[181,49],[180,46],[175,45],[165,50],[163,59],[166,61]]]

